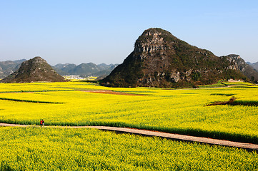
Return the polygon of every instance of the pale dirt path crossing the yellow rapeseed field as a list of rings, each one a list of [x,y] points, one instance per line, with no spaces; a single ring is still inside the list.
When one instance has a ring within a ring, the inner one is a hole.
[[[18,125],[18,124],[9,124],[9,123],[0,123],[0,126],[9,126],[9,127],[40,127],[39,125]],[[94,128],[99,130],[109,130],[116,133],[131,133],[135,135],[151,136],[151,137],[160,137],[168,138],[172,140],[187,141],[187,142],[202,142],[209,145],[222,145],[227,147],[237,147],[244,148],[246,150],[258,150],[257,144],[244,143],[244,142],[233,142],[229,140],[217,140],[212,138],[202,138],[194,137],[189,135],[179,135],[172,133],[162,133],[151,130],[138,130],[133,128],[117,128],[117,127],[108,127],[108,126],[44,126],[52,128]]]

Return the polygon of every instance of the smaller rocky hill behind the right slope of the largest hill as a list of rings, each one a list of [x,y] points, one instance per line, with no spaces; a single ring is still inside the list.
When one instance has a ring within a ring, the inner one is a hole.
[[[232,63],[229,68],[241,71],[244,73],[244,76],[247,76],[252,81],[258,81],[258,72],[252,66],[249,66],[239,55],[231,54],[225,57]]]

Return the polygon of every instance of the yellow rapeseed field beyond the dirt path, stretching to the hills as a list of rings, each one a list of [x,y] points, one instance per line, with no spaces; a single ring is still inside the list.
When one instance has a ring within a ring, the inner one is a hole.
[[[44,119],[46,125],[111,125],[258,142],[257,90],[257,86],[106,88],[86,82],[0,84],[0,120],[39,125]],[[244,105],[206,106],[232,96]]]

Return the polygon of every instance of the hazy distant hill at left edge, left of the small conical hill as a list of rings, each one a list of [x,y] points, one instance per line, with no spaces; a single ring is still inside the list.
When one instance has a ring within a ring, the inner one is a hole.
[[[16,61],[1,61],[0,62],[0,78],[5,78],[11,73],[19,69],[19,66],[26,59],[16,60]]]

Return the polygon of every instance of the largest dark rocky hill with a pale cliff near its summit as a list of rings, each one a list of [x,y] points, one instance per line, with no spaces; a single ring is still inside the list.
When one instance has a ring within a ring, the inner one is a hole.
[[[149,28],[134,51],[104,78],[104,86],[181,87],[246,79],[227,57],[191,46],[161,28]]]

